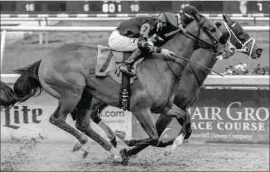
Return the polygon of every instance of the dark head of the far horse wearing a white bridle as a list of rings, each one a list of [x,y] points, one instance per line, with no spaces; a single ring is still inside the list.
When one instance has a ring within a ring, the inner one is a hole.
[[[238,22],[233,21],[228,15],[223,14],[224,22],[222,24],[216,23],[221,33],[228,32],[229,40],[232,45],[235,45],[237,51],[247,54],[252,59],[259,58],[262,54],[262,48],[260,48],[254,38],[246,33]]]

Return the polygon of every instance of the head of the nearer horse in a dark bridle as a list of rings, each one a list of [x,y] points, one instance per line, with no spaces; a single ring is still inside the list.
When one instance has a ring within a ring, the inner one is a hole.
[[[216,25],[203,15],[193,15],[193,18],[189,24],[185,24],[185,29],[196,36],[197,45],[195,49],[208,49],[221,55],[226,52],[229,56],[235,53],[235,46],[228,41],[229,33],[221,34]]]

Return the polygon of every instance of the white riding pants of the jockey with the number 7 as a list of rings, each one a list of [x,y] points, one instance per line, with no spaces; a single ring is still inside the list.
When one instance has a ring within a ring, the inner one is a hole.
[[[138,48],[138,38],[121,36],[118,30],[113,31],[109,38],[109,46],[118,52],[132,52]]]

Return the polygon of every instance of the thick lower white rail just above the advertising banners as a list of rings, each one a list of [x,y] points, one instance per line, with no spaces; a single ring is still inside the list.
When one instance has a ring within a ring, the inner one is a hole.
[[[20,75],[1,74],[1,81],[14,84]],[[231,87],[269,87],[269,75],[209,75],[205,80],[205,86],[231,86]]]

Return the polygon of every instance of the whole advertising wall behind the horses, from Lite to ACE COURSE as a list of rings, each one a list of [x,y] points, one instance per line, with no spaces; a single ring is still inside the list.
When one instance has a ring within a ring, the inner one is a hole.
[[[47,141],[75,141],[75,139],[49,123],[56,109],[55,101],[45,95],[15,104],[1,111],[1,140],[45,136]],[[38,105],[37,105],[38,104]],[[204,90],[189,109],[193,133],[189,141],[206,143],[269,143],[269,91],[268,90]],[[147,134],[129,111],[107,107],[100,114],[104,123],[113,131],[125,131],[127,139],[145,139]],[[159,114],[153,114],[157,120]],[[75,127],[71,116],[66,122]],[[106,138],[95,123],[93,129]],[[162,134],[172,139],[180,132],[180,125],[173,119]],[[89,139],[91,140],[91,139]],[[118,140],[120,141],[120,140]]]

